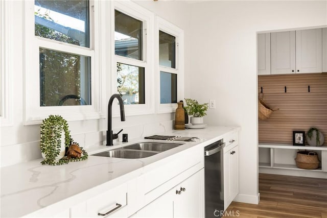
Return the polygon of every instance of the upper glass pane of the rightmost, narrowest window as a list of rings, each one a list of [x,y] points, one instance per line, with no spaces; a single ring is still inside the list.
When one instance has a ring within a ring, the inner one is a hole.
[[[159,31],[159,65],[175,68],[175,36]]]

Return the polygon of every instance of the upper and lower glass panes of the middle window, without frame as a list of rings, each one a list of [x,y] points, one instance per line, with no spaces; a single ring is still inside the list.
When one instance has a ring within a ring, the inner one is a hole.
[[[143,22],[114,11],[114,54],[143,60]],[[121,60],[130,63],[129,60]],[[117,62],[117,87],[124,104],[145,104],[145,67]]]

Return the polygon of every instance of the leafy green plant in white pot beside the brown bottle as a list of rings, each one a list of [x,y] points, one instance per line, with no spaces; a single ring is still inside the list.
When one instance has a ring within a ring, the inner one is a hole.
[[[201,125],[203,124],[203,116],[206,115],[208,110],[208,103],[199,104],[198,101],[194,99],[185,99],[186,106],[185,110],[191,115],[191,124],[192,125]]]

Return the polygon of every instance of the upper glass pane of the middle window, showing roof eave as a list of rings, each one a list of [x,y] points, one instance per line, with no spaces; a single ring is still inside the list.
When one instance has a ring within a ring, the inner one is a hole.
[[[143,60],[142,21],[117,10],[114,12],[114,54]]]

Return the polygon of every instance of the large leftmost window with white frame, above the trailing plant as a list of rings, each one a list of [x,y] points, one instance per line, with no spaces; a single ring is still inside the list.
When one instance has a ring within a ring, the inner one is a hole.
[[[35,0],[26,6],[27,124],[51,113],[69,115],[68,120],[100,118],[94,43],[94,8],[99,5]]]

